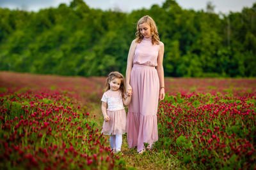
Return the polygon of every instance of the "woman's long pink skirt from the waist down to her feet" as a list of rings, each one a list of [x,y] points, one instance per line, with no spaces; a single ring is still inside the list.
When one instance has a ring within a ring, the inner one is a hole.
[[[128,108],[127,142],[129,148],[137,146],[140,152],[144,148],[143,143],[152,145],[158,140],[159,78],[156,68],[134,65],[130,85],[132,99]]]

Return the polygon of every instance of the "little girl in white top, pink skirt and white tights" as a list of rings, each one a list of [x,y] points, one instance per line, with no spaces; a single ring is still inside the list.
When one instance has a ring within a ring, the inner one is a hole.
[[[101,99],[104,116],[102,132],[111,135],[109,142],[113,152],[120,152],[122,134],[126,132],[124,105],[128,106],[131,102],[131,95],[125,95],[124,76],[117,71],[109,73],[105,90]]]

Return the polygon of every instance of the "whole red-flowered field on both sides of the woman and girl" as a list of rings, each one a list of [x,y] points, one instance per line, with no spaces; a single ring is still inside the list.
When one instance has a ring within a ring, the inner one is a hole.
[[[104,81],[0,72],[0,169],[129,169],[100,134],[100,111],[88,111],[100,108]],[[166,78],[159,141],[143,154],[163,153],[177,169],[256,169],[255,87],[255,79]]]

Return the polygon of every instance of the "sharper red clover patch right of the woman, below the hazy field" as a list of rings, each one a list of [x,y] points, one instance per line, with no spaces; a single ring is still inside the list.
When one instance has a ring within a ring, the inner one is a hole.
[[[158,150],[188,168],[255,169],[254,97],[169,96],[159,104]]]

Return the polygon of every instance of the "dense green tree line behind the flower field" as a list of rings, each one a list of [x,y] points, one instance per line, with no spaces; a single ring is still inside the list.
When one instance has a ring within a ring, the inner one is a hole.
[[[211,6],[210,6],[211,7]],[[125,74],[136,22],[156,21],[165,76],[256,76],[256,3],[227,15],[185,10],[174,0],[150,9],[102,11],[83,0],[40,11],[0,8],[0,70],[38,74]]]

